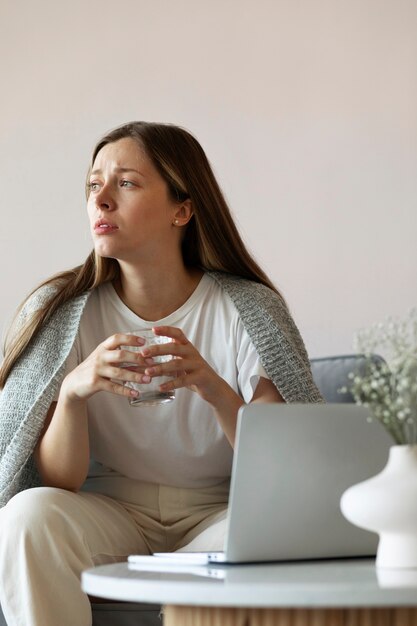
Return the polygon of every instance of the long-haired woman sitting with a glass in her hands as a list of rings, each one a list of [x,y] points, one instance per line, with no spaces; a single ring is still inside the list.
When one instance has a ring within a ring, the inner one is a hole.
[[[94,564],[222,549],[239,408],[321,401],[285,302],[188,132],[110,132],[87,198],[94,251],[26,301],[0,372],[9,625],[91,624],[79,577]],[[129,328],[171,341],[144,351]],[[161,353],[174,360],[157,364]],[[175,400],[131,407],[125,383],[161,374]]]

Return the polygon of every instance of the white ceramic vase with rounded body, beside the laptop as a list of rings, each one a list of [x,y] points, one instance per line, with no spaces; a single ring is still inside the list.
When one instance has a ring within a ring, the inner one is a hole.
[[[377,567],[417,568],[417,445],[392,446],[382,472],[345,491],[340,508],[378,533]]]

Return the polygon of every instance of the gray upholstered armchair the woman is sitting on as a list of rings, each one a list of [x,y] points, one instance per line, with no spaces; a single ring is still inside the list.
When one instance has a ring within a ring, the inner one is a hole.
[[[383,362],[378,356],[377,362]],[[339,389],[348,386],[348,374],[361,370],[365,359],[361,355],[323,357],[311,360],[313,378],[327,402],[353,402],[350,393]],[[130,602],[93,602],[93,626],[161,626],[161,608],[150,604]],[[0,611],[0,626],[6,626]]]

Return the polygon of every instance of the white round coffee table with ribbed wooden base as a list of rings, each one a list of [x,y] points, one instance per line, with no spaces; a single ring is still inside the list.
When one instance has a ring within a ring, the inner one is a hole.
[[[181,566],[82,575],[90,595],[160,603],[164,626],[417,626],[417,571],[374,560]]]

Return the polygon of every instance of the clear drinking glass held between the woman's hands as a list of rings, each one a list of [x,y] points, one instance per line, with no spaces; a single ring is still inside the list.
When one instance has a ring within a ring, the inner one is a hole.
[[[171,337],[163,337],[160,335],[155,335],[152,330],[127,330],[124,331],[126,335],[136,335],[137,337],[142,337],[145,340],[145,343],[141,346],[121,346],[122,350],[130,350],[132,352],[140,352],[144,348],[148,348],[155,344],[161,343],[170,343],[172,341]],[[154,363],[165,363],[166,361],[170,361],[173,357],[171,354],[164,354],[161,356],[152,357]],[[125,367],[129,365],[136,365],[132,363],[125,362],[123,364]],[[172,380],[171,376],[155,376],[151,379],[150,383],[133,383],[131,381],[127,381],[124,383],[125,387],[129,387],[129,389],[135,389],[139,391],[139,396],[136,398],[129,398],[129,403],[131,406],[155,406],[157,404],[165,404],[166,402],[172,402],[175,399],[175,389],[170,391],[161,391],[159,386],[165,383],[168,380]]]

